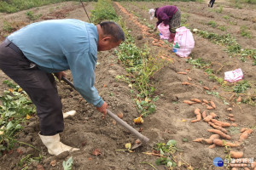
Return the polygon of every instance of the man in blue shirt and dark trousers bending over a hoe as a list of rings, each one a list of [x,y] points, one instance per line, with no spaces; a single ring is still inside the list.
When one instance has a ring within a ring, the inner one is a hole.
[[[106,115],[108,104],[94,87],[97,51],[116,48],[123,41],[124,31],[114,22],[95,26],[66,19],[33,23],[15,31],[0,44],[0,69],[36,105],[39,137],[49,154],[56,156],[63,151],[79,150],[60,140],[64,122],[55,77],[61,80],[66,76],[64,71],[70,70],[79,94]]]

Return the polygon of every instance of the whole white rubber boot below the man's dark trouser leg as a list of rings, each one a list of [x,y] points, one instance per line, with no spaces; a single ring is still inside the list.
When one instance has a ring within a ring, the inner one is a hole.
[[[60,141],[60,135],[55,134],[54,136],[43,136],[39,134],[43,144],[47,147],[50,155],[57,156],[64,151],[75,151],[78,148],[72,148],[66,144],[62,144]]]

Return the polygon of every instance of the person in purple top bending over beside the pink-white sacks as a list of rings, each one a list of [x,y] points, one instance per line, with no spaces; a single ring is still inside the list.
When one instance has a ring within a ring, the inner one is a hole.
[[[180,26],[181,12],[179,8],[173,5],[167,5],[160,8],[151,8],[149,9],[149,14],[150,20],[153,20],[154,17],[158,20],[154,27],[154,31],[156,31],[157,26],[159,26],[161,22],[163,22],[165,26],[170,26],[169,30],[171,35],[168,41],[172,42],[176,34],[176,29]]]

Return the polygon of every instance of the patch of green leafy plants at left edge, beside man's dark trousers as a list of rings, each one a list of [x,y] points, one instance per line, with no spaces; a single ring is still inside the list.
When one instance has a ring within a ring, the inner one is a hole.
[[[2,134],[0,135],[0,150],[11,150],[15,140],[15,134],[22,130],[23,125],[30,116],[36,112],[35,106],[28,98],[25,91],[13,82],[4,81],[9,90],[4,90],[0,96],[2,105],[0,105],[0,127]],[[2,154],[0,152],[0,155]]]

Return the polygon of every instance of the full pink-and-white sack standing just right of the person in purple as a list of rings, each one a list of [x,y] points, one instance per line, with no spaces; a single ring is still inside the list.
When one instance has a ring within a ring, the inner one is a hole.
[[[185,26],[176,29],[172,51],[180,57],[189,57],[195,41],[192,32]]]

